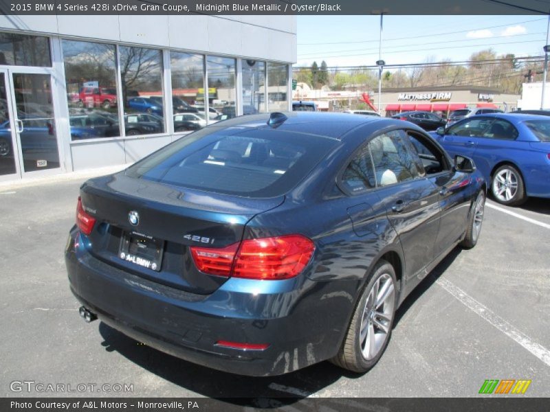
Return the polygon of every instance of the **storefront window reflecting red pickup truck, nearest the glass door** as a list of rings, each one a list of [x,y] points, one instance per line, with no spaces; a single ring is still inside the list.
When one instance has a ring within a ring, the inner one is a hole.
[[[63,60],[72,140],[120,136],[115,46],[64,40]]]

